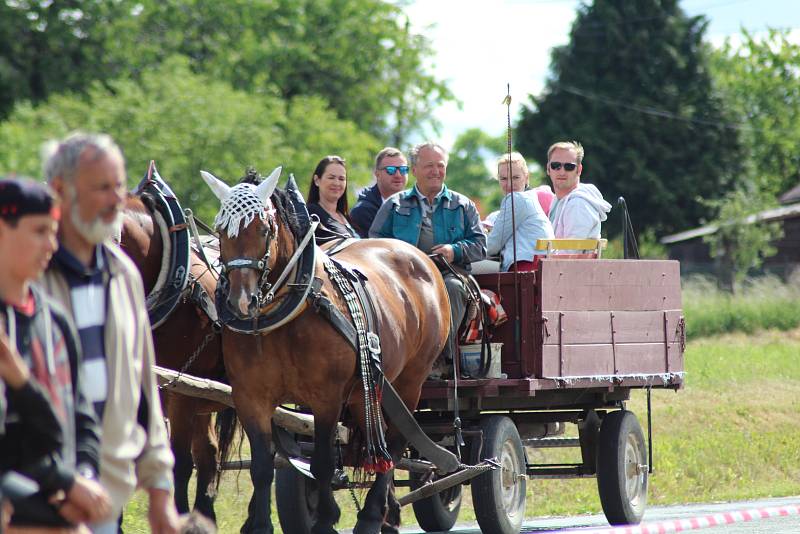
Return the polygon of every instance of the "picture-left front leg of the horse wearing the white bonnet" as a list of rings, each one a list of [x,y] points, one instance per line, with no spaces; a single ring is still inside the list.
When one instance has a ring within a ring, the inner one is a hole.
[[[270,491],[275,476],[275,452],[272,446],[271,419],[272,410],[266,417],[255,414],[243,421],[244,430],[250,440],[253,496],[247,507],[247,521],[242,526],[242,534],[273,533]]]

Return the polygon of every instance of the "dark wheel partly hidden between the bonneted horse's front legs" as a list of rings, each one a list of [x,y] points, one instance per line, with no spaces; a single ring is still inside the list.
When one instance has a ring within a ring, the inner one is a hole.
[[[317,519],[316,482],[293,467],[275,470],[275,506],[284,532],[311,534]]]

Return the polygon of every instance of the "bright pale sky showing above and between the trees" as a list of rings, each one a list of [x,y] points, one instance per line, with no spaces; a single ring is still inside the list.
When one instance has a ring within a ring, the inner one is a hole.
[[[414,0],[404,10],[412,27],[432,41],[429,66],[461,101],[440,106],[440,142],[451,147],[472,127],[505,132],[506,84],[511,84],[511,120],[520,104],[544,88],[550,50],[567,44],[579,0]],[[798,0],[683,0],[689,15],[705,15],[706,38],[721,45],[741,28],[765,32],[791,28],[800,42]]]

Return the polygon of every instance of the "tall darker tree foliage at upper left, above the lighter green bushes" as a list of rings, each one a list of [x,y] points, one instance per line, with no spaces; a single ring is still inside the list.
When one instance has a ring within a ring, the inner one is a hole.
[[[395,144],[452,99],[426,72],[428,41],[383,0],[19,0],[0,6],[0,43],[0,118],[176,54],[247,93],[319,97]]]

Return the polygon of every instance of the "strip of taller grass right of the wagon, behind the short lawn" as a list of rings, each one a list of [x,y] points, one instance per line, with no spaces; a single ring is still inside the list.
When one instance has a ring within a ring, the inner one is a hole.
[[[790,330],[800,326],[800,282],[775,278],[747,280],[736,295],[713,280],[693,277],[683,284],[683,310],[689,339],[729,332]]]

